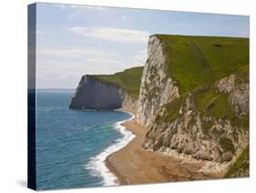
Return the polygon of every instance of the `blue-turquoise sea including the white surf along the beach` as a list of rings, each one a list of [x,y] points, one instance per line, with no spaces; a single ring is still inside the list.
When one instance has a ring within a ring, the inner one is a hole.
[[[121,124],[133,115],[115,110],[77,110],[73,92],[36,92],[36,187],[116,186],[105,159],[135,137]]]

